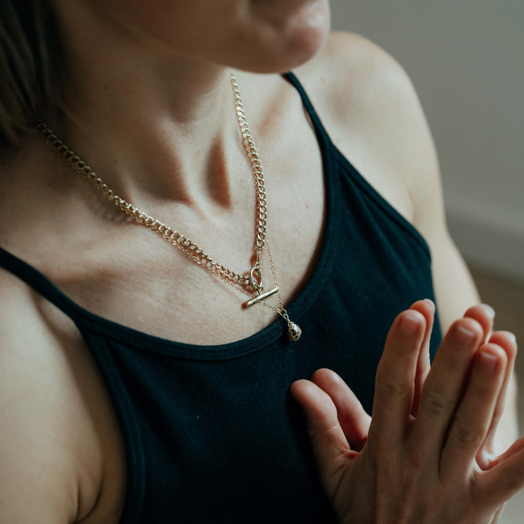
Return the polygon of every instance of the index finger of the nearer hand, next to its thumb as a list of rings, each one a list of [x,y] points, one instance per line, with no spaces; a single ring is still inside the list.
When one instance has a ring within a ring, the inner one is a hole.
[[[400,313],[388,332],[375,377],[369,428],[369,438],[378,448],[391,449],[405,438],[424,334],[425,318],[414,310]]]

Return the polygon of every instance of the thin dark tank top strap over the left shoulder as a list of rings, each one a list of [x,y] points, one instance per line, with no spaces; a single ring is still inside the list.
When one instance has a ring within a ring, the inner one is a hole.
[[[65,296],[46,276],[2,247],[0,247],[0,268],[4,268],[25,282],[75,323],[82,318],[82,308],[79,305]]]

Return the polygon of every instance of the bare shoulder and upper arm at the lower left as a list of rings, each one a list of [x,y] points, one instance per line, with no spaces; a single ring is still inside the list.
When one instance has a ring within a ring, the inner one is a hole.
[[[69,524],[103,479],[98,385],[63,313],[3,269],[0,289],[0,520]]]

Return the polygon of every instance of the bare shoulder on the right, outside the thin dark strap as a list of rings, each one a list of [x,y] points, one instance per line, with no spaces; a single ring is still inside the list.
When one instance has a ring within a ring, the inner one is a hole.
[[[314,93],[335,145],[408,220],[426,227],[424,210],[429,195],[440,192],[440,171],[427,119],[402,65],[361,35],[333,31],[296,73]],[[399,181],[402,188],[395,187]],[[442,202],[436,206],[443,226]]]

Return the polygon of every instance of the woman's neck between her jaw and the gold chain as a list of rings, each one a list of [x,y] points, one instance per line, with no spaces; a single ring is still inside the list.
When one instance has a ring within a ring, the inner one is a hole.
[[[60,13],[64,142],[132,202],[229,208],[249,173],[231,69],[177,54],[82,3],[63,2]],[[266,76],[235,75],[251,95]]]

